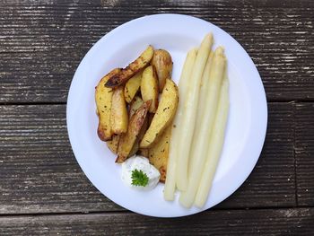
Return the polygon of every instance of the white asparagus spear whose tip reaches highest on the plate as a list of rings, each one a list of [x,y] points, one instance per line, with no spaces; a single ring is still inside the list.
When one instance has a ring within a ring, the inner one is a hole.
[[[188,94],[185,102],[185,108],[182,117],[182,125],[179,127],[179,145],[176,184],[177,188],[184,191],[188,187],[188,157],[194,128],[196,125],[196,109],[199,95],[199,88],[205,64],[213,45],[213,35],[207,34],[198,49],[195,66],[193,67],[192,77],[189,83]]]

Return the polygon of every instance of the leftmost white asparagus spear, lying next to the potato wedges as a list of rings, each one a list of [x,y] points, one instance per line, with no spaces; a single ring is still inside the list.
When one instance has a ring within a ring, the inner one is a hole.
[[[172,123],[172,131],[170,137],[170,153],[167,166],[167,177],[165,187],[163,191],[163,197],[165,200],[172,201],[174,199],[174,192],[176,188],[176,162],[178,159],[178,141],[180,134],[180,121],[182,120],[182,113],[184,109],[184,103],[187,97],[188,83],[191,79],[192,70],[196,61],[196,48],[191,49],[188,52],[186,61],[184,63],[181,77],[179,80],[179,104],[177,114]]]

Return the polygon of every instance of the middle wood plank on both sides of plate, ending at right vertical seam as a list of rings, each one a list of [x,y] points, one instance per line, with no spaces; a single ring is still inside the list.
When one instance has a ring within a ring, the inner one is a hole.
[[[226,207],[295,203],[292,104],[271,103],[266,144],[247,182]],[[74,159],[65,105],[0,106],[0,214],[121,210],[103,197]]]

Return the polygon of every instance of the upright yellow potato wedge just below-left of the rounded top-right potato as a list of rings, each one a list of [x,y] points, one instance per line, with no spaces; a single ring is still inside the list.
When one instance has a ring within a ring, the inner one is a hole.
[[[153,66],[147,66],[142,74],[141,93],[143,101],[152,100],[149,112],[155,113],[158,107],[158,79]]]

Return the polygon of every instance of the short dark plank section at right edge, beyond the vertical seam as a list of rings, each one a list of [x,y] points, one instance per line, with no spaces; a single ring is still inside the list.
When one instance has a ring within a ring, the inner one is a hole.
[[[297,103],[295,157],[299,205],[314,205],[314,103]]]

